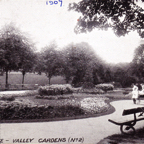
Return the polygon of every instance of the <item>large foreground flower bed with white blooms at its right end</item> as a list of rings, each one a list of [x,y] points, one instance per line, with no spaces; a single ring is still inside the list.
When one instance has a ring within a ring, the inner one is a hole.
[[[48,101],[44,105],[31,100],[18,99],[14,101],[0,100],[0,120],[32,120],[65,118],[98,114],[108,110],[104,102],[106,98],[85,98],[82,101],[77,98],[57,99],[54,105]]]

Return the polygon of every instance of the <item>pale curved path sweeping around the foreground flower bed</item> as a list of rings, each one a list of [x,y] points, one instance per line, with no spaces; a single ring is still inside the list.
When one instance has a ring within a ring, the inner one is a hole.
[[[69,138],[79,138],[79,140],[82,138],[84,139],[83,143],[95,144],[104,137],[120,133],[119,126],[108,122],[109,118],[119,120],[122,118],[124,109],[144,106],[144,101],[137,105],[134,105],[132,100],[114,101],[111,104],[116,109],[114,113],[96,118],[39,123],[2,123],[0,125],[0,139],[4,139],[3,143],[13,143],[13,139],[28,138],[27,142],[29,142],[29,138],[34,138],[31,143],[44,143],[42,142],[44,138],[51,140],[52,138],[66,138],[62,143],[68,143]],[[135,128],[143,125],[143,122],[140,121]],[[76,143],[76,139],[74,143]],[[77,143],[80,142],[77,141]]]

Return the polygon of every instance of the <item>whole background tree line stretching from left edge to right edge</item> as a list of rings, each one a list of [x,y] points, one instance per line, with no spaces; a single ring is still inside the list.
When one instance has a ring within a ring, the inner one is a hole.
[[[14,26],[6,26],[0,31],[0,68],[8,72],[42,72],[50,84],[53,76],[61,75],[66,83],[80,86],[85,82],[93,84],[117,82],[121,86],[130,86],[137,81],[144,81],[144,45],[134,52],[131,63],[108,65],[88,43],[71,43],[61,50],[55,42],[35,52],[34,44]]]

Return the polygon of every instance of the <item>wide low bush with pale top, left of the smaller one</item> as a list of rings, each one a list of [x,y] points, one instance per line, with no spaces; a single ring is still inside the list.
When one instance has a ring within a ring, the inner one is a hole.
[[[63,94],[71,94],[73,93],[72,87],[69,84],[65,85],[48,85],[41,86],[38,88],[39,95],[63,95]]]

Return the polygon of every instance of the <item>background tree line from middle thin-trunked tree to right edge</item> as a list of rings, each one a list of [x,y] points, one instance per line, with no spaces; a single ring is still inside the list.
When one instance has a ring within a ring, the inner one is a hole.
[[[93,84],[115,82],[128,87],[132,83],[144,82],[144,45],[134,51],[131,63],[107,64],[87,43],[69,44],[61,51],[51,44],[41,52],[40,70],[50,79],[61,75],[67,83],[80,86],[84,82]]]

